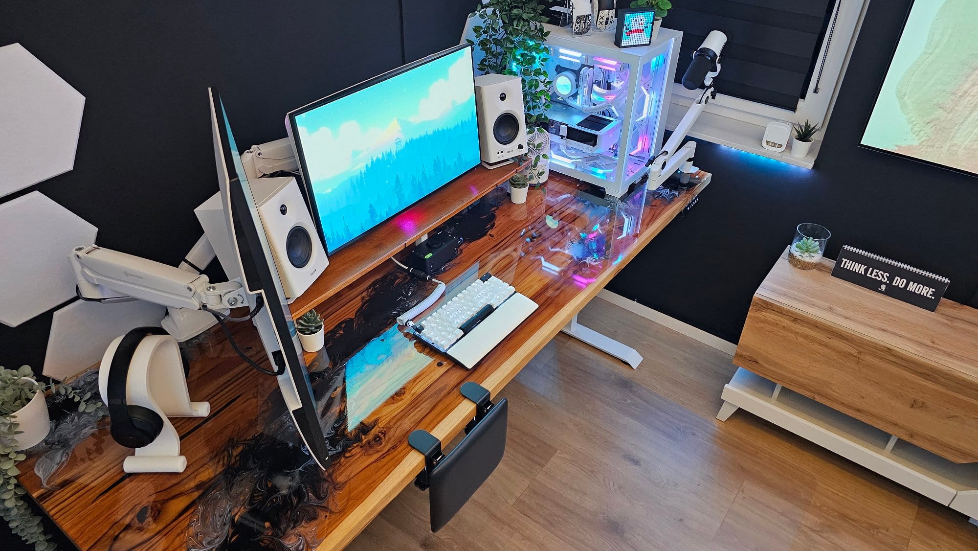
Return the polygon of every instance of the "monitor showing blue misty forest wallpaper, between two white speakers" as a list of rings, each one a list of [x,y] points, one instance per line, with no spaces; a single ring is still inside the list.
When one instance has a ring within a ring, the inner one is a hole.
[[[293,137],[330,253],[479,162],[470,48],[324,101]]]

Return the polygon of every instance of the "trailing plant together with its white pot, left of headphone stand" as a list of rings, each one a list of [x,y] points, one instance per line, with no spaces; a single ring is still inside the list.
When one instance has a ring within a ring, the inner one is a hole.
[[[51,428],[45,390],[70,397],[78,403],[78,411],[97,412],[104,405],[97,396],[89,401],[91,392],[38,382],[28,366],[0,367],[0,517],[35,551],[54,550],[55,544],[23,501],[26,491],[17,482],[21,474],[17,463],[26,458],[21,450],[39,443]]]

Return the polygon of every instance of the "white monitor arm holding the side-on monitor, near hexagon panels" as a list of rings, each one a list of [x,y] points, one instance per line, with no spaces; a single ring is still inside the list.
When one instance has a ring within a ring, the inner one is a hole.
[[[173,320],[169,327],[164,321],[163,327],[171,334],[177,333],[173,336],[178,341],[184,341],[214,323],[209,312],[187,316],[194,313],[187,310],[226,310],[248,304],[247,292],[240,283],[211,284],[207,276],[182,269],[185,264],[206,265],[208,256],[213,258],[213,254],[206,237],[202,237],[181,268],[95,245],[74,248],[69,259],[79,298],[101,302],[139,298],[167,306]],[[191,257],[198,258],[198,262]]]

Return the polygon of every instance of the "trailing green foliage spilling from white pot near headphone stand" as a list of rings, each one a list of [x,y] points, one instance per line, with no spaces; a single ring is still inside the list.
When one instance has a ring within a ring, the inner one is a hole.
[[[98,397],[92,399],[91,392],[78,392],[66,385],[49,385],[41,382],[24,381],[34,379],[34,372],[24,365],[20,369],[0,367],[0,517],[7,521],[11,531],[21,536],[35,551],[50,551],[56,548],[51,537],[44,533],[41,519],[34,515],[23,501],[26,491],[17,482],[21,474],[17,463],[26,456],[18,451],[18,423],[12,415],[17,413],[37,392],[52,391],[70,397],[78,404],[78,411],[104,411],[104,404]]]

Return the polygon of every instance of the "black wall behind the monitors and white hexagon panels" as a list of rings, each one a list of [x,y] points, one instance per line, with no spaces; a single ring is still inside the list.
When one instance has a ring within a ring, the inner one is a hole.
[[[0,202],[39,190],[98,226],[99,245],[176,264],[217,191],[207,86],[241,148],[282,138],[290,110],[457,44],[471,4],[404,0],[402,27],[399,0],[7,0],[0,45],[20,42],[85,111],[74,169]],[[0,325],[0,365],[39,371],[52,314]]]

